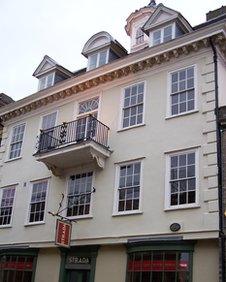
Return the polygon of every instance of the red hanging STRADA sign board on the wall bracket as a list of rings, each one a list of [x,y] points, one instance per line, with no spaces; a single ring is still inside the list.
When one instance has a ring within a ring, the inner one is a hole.
[[[57,219],[55,244],[60,247],[70,248],[71,229],[71,223]]]

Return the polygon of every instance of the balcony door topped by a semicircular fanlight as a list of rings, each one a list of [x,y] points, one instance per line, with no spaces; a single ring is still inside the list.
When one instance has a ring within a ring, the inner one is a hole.
[[[78,106],[76,140],[83,141],[96,135],[99,97],[82,101]],[[92,119],[94,117],[94,119]]]

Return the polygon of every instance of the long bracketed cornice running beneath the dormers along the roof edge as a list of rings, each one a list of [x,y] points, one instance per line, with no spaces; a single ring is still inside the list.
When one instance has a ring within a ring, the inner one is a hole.
[[[5,106],[0,111],[0,118],[3,122],[6,122],[61,99],[95,88],[101,84],[147,70],[156,65],[168,62],[173,58],[208,48],[210,36],[226,57],[224,26],[221,24],[221,27],[221,29],[218,27],[217,30],[216,28],[215,30],[210,29],[209,32],[205,30],[204,34],[202,34],[203,31],[192,32],[166,44],[130,54],[126,58],[117,60],[115,63],[87,72],[79,77],[67,79],[59,85],[37,92],[18,102]],[[199,36],[197,37],[196,34]]]

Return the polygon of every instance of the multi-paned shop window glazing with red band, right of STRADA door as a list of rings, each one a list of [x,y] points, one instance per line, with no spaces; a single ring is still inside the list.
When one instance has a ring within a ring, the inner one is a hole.
[[[128,256],[127,282],[190,282],[191,252],[147,251]]]

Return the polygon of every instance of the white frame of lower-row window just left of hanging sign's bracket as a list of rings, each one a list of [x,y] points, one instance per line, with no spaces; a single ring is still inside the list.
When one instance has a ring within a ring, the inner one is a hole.
[[[47,181],[47,187],[46,187],[46,198],[45,198],[45,210],[44,210],[44,216],[43,216],[43,220],[42,221],[34,221],[34,222],[30,222],[29,218],[30,218],[30,207],[31,207],[31,197],[32,197],[32,192],[33,192],[33,185],[35,183],[40,183],[40,182],[44,182]],[[48,195],[49,195],[49,186],[50,186],[50,179],[49,178],[43,178],[43,179],[38,179],[38,180],[34,180],[31,181],[29,184],[29,203],[28,203],[28,208],[27,208],[27,218],[25,221],[25,226],[29,226],[29,225],[39,225],[39,224],[45,224],[46,221],[46,213],[47,213],[47,206],[48,206]]]

